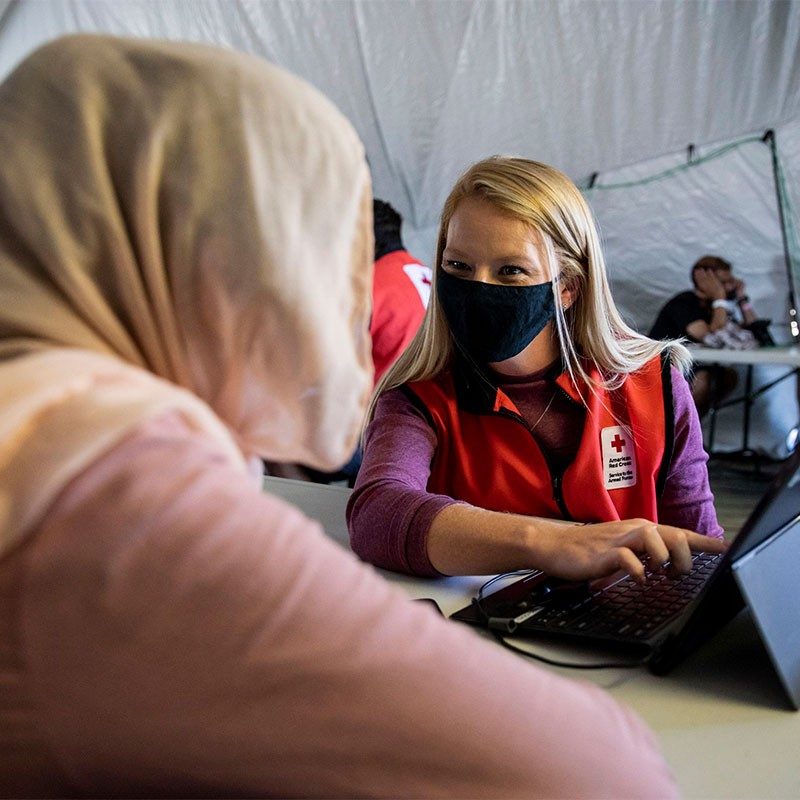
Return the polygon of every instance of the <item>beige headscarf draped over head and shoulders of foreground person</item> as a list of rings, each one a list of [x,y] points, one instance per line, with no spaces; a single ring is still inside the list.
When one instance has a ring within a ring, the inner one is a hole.
[[[331,468],[371,386],[371,187],[316,90],[73,36],[0,85],[0,552],[142,419]]]

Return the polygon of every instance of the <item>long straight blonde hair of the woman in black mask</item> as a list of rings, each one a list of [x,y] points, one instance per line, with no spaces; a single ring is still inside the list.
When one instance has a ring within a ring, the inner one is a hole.
[[[411,381],[432,378],[450,362],[454,343],[436,294],[447,228],[458,204],[467,197],[490,202],[499,210],[530,225],[542,239],[550,275],[554,276],[555,327],[562,359],[573,380],[590,389],[618,388],[626,376],[647,361],[668,352],[673,365],[688,371],[691,356],[677,341],[654,341],[637,333],[622,319],[606,275],[597,226],[578,187],[553,167],[524,158],[492,156],[473,164],[456,181],[445,201],[434,258],[434,280],[428,310],[417,335],[385,373],[372,396],[367,422],[383,392]],[[562,286],[575,300],[565,311]],[[584,369],[585,359],[597,366],[600,380]]]

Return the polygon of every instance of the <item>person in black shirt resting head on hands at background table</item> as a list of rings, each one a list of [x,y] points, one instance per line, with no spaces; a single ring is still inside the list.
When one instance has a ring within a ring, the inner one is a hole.
[[[747,328],[758,317],[744,281],[734,276],[730,262],[703,256],[692,267],[691,279],[694,288],[667,301],[648,335],[652,339],[686,338],[709,347],[756,347]],[[691,389],[700,417],[727,397],[736,383],[736,370],[730,367],[695,368]]]

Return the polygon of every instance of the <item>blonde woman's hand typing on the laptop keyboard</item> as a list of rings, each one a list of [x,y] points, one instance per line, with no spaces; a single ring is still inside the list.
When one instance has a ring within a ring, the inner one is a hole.
[[[640,582],[646,580],[644,562],[651,570],[681,575],[692,567],[692,552],[728,548],[722,539],[645,519],[541,526],[532,546],[533,564],[549,575],[592,580],[622,570]]]

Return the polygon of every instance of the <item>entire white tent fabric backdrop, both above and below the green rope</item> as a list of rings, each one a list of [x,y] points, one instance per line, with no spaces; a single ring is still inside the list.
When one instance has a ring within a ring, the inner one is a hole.
[[[789,0],[0,0],[0,77],[56,36],[213,42],[306,78],[365,143],[375,193],[433,253],[456,176],[491,153],[598,185],[776,130],[800,208],[800,3]],[[615,297],[646,330],[717,253],[786,339],[787,277],[769,149],[756,142],[643,186],[587,192]],[[767,370],[766,372],[769,372]],[[752,442],[786,453],[792,381],[759,400]],[[736,449],[738,410],[717,444]],[[735,418],[734,418],[735,417]],[[722,420],[725,423],[725,420]]]

